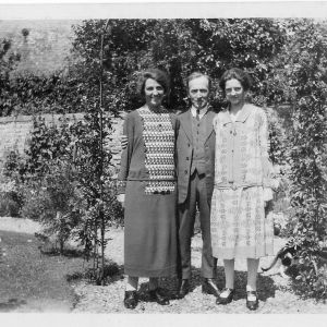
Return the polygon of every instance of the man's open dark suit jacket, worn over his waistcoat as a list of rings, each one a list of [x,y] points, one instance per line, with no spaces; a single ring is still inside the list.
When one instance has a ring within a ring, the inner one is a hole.
[[[208,111],[203,119],[206,119],[205,135],[205,169],[208,201],[211,201],[215,179],[215,144],[216,133],[214,131],[213,120],[216,113]],[[178,174],[178,194],[179,204],[185,202],[190,185],[190,173],[193,155],[192,121],[190,110],[178,116],[180,121],[177,138],[177,174]]]

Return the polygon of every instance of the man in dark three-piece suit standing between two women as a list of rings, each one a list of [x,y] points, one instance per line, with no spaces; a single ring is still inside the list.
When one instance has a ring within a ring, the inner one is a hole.
[[[179,114],[180,129],[177,138],[179,246],[181,271],[178,296],[190,292],[191,240],[194,230],[196,206],[203,239],[202,291],[216,296],[219,290],[215,282],[217,259],[211,255],[210,202],[215,177],[215,131],[208,98],[210,78],[202,73],[187,77],[187,94],[191,108]]]

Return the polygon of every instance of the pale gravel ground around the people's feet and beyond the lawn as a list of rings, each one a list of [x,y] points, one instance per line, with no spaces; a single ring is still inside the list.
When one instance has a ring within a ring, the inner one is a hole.
[[[39,226],[28,219],[0,218],[0,231],[11,230],[17,232],[34,233],[39,231]],[[192,292],[182,300],[171,300],[170,305],[160,306],[157,303],[146,301],[147,279],[141,279],[141,303],[134,311],[126,310],[122,300],[124,295],[125,278],[123,276],[123,229],[114,229],[108,232],[109,242],[106,249],[106,256],[116,262],[120,267],[120,275],[116,276],[108,286],[100,287],[88,284],[84,281],[73,284],[78,298],[74,313],[240,313],[246,314],[250,311],[245,307],[245,283],[246,283],[246,261],[235,262],[235,300],[226,306],[216,305],[213,295],[203,294],[201,291],[201,249],[202,240],[197,234],[192,241]],[[284,243],[284,240],[275,239],[276,252]],[[266,266],[271,257],[262,259],[261,264]],[[218,287],[223,287],[223,268],[221,261],[217,269]],[[259,308],[255,314],[265,313],[306,313],[326,314],[327,305],[317,303],[314,300],[302,300],[296,296],[290,288],[290,280],[282,278],[276,270],[259,274]],[[170,292],[175,290],[175,279],[162,280],[162,287]]]

